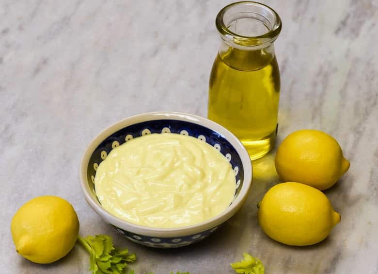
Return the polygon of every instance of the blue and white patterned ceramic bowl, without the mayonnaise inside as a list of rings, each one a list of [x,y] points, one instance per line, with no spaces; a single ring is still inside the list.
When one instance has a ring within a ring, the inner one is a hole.
[[[123,221],[105,210],[94,190],[98,165],[110,151],[128,140],[151,133],[171,132],[197,137],[218,149],[230,161],[236,176],[235,198],[220,215],[205,222],[178,227],[152,228]],[[231,218],[247,199],[252,182],[252,164],[241,142],[227,129],[208,119],[185,113],[153,112],[121,120],[95,137],[80,165],[81,188],[89,206],[117,232],[134,242],[160,248],[185,246],[203,240]]]

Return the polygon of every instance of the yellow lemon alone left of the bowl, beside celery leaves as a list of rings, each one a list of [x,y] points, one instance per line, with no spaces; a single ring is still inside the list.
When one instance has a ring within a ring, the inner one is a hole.
[[[32,262],[51,263],[64,257],[75,245],[79,220],[64,199],[40,196],[18,209],[11,232],[18,254]]]

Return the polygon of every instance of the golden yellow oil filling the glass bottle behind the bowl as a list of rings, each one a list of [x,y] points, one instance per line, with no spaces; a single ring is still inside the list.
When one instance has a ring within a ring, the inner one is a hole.
[[[208,118],[234,133],[251,160],[260,158],[274,146],[279,93],[274,51],[229,47],[211,70]]]

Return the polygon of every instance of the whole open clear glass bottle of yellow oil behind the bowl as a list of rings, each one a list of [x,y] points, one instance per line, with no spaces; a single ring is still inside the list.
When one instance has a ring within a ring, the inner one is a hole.
[[[251,160],[267,154],[277,133],[280,71],[273,42],[281,19],[256,2],[232,3],[219,12],[221,47],[210,74],[208,118],[238,137]]]

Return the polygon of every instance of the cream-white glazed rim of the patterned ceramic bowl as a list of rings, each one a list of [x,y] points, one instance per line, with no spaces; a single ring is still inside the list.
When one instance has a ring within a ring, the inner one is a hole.
[[[93,196],[91,195],[91,189],[89,188],[88,184],[88,177],[87,177],[87,169],[89,164],[89,159],[92,156],[94,150],[98,147],[98,145],[111,134],[115,133],[116,131],[125,128],[127,126],[149,121],[149,120],[182,120],[191,122],[194,124],[205,126],[213,131],[216,131],[223,135],[225,139],[227,139],[230,144],[235,148],[236,152],[239,154],[243,170],[244,170],[244,178],[242,188],[240,189],[239,194],[237,195],[234,202],[231,206],[228,206],[221,214],[205,220],[201,223],[192,224],[189,226],[181,226],[176,228],[155,228],[155,227],[148,227],[142,226],[134,223],[129,223],[124,221],[110,212],[108,212],[105,208],[100,206],[98,201],[95,201]],[[142,113],[134,116],[130,116],[123,120],[119,120],[103,131],[101,131],[97,136],[95,136],[88,144],[84,153],[81,157],[80,168],[79,168],[79,177],[80,177],[80,185],[81,189],[84,193],[85,200],[92,207],[92,209],[102,218],[105,219],[107,223],[112,224],[118,228],[121,228],[127,232],[135,233],[142,236],[149,236],[149,237],[160,237],[160,238],[174,238],[174,237],[183,237],[189,236],[197,233],[204,232],[208,229],[214,228],[221,223],[227,221],[231,218],[236,211],[243,205],[245,200],[248,197],[251,185],[252,185],[252,162],[250,156],[240,142],[240,140],[232,134],[229,130],[221,126],[220,124],[208,120],[204,117],[183,113],[183,112],[171,112],[171,111],[158,111],[158,112],[148,112]]]

